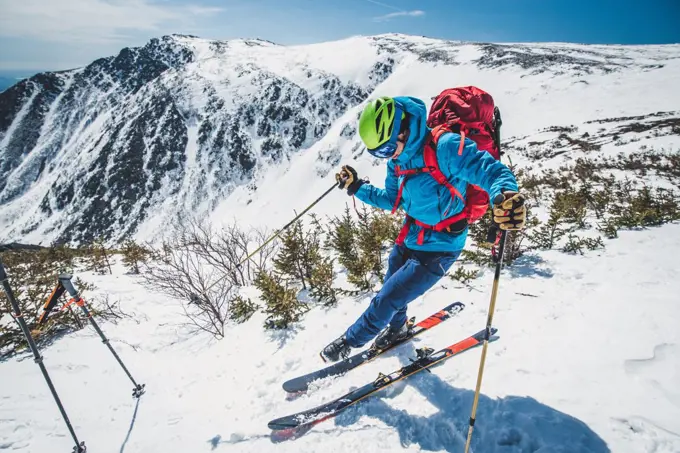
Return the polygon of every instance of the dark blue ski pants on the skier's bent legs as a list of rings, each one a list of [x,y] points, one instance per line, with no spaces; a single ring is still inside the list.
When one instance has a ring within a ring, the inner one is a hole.
[[[406,322],[406,306],[432,288],[458,259],[461,251],[425,252],[395,245],[388,259],[385,283],[369,307],[352,324],[345,338],[350,346],[361,347],[388,324]]]

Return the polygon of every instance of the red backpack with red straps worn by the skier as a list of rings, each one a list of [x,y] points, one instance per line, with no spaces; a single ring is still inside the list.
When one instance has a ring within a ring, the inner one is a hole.
[[[459,214],[446,218],[436,225],[425,224],[407,215],[406,222],[397,238],[397,244],[404,243],[412,223],[422,228],[418,236],[418,244],[422,244],[425,230],[462,231],[465,226],[478,221],[486,213],[489,207],[489,195],[483,189],[468,184],[465,190],[465,198],[463,198],[439,169],[436,152],[437,142],[445,132],[456,132],[461,136],[460,147],[458,148],[459,155],[463,153],[465,138],[467,137],[477,144],[480,151],[487,151],[496,160],[499,160],[500,125],[500,111],[494,106],[493,98],[489,93],[477,87],[449,88],[434,98],[430,107],[430,114],[427,117],[427,126],[432,131],[425,142],[423,151],[425,167],[402,170],[398,165],[396,166],[397,177],[405,176],[405,178],[399,187],[392,213],[396,212],[399,207],[406,179],[417,173],[429,173],[439,184],[449,190],[452,198],[460,198],[465,207]]]

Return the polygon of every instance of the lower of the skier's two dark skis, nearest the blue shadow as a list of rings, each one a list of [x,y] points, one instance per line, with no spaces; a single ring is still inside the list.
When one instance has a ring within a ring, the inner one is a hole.
[[[496,331],[497,330],[494,328],[490,329],[488,333],[489,337],[494,335]],[[395,382],[412,376],[419,371],[427,370],[428,368],[439,362],[442,362],[443,360],[461,354],[474,348],[475,346],[482,344],[486,335],[486,329],[481,330],[476,334],[459,341],[458,343],[452,344],[451,346],[440,349],[436,352],[433,352],[431,348],[418,349],[416,351],[418,353],[418,357],[413,360],[411,364],[406,365],[405,367],[387,375],[380,373],[375,381],[353,390],[346,395],[337,398],[336,400],[322,404],[321,406],[307,411],[277,418],[276,420],[270,421],[268,426],[274,431],[294,431],[303,428],[311,429],[312,426],[321,423],[324,420],[328,420],[329,418],[335,417],[348,407],[358,403],[364,398],[373,395],[385,387],[394,384]],[[495,338],[490,338],[490,341],[493,340],[495,340]]]

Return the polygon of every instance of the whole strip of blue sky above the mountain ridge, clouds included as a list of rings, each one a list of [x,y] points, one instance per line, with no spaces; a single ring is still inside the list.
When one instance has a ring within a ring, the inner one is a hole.
[[[492,41],[680,43],[680,0],[0,0],[0,71],[58,70],[151,37],[303,44],[388,32]]]

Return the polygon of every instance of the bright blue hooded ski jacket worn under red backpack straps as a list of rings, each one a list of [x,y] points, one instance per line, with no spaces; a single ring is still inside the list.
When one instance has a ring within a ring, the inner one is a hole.
[[[425,103],[413,97],[395,97],[395,102],[409,115],[409,137],[402,153],[387,163],[385,188],[380,189],[365,183],[359,187],[356,197],[364,203],[381,209],[391,210],[397,200],[402,178],[396,176],[395,166],[402,170],[425,166],[423,149],[430,129],[427,127]],[[508,167],[493,158],[486,151],[477,149],[472,140],[466,138],[462,155],[458,155],[461,136],[456,133],[443,134],[437,143],[437,162],[449,182],[465,197],[467,184],[484,189],[491,200],[503,190],[517,191],[517,180]],[[426,173],[408,178],[402,192],[401,208],[406,214],[427,225],[435,225],[463,210],[464,204],[452,198],[449,190]],[[446,213],[446,214],[445,214]],[[422,245],[417,243],[421,227],[413,223],[404,245],[412,250],[449,252],[465,247],[467,228],[461,234],[425,230]]]

